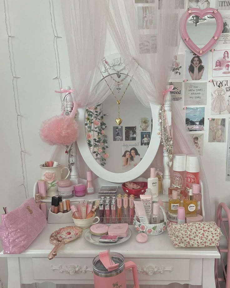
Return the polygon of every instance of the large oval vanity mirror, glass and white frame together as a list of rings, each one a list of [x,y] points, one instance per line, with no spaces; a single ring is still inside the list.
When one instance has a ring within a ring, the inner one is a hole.
[[[116,73],[113,75],[118,76]],[[87,105],[78,109],[78,147],[83,159],[98,177],[115,183],[139,177],[153,161],[160,143],[159,106],[143,106],[132,86],[128,85],[129,80],[130,77],[123,80],[121,87],[113,86],[112,91],[117,99],[106,85],[110,93],[105,100],[96,106]],[[98,85],[102,85],[102,81]],[[102,91],[101,87],[98,87],[98,91]],[[119,105],[122,123],[117,125],[117,100],[122,95]]]

